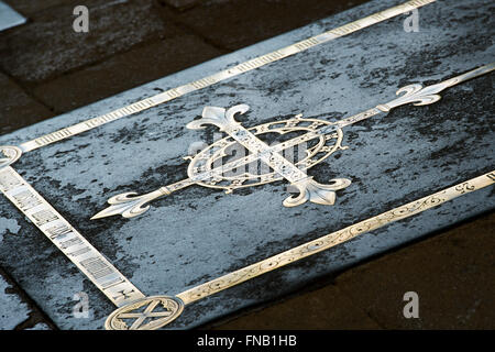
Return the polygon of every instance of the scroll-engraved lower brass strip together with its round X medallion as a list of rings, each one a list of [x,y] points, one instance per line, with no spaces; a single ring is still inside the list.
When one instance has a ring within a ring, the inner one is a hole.
[[[298,245],[264,261],[220,276],[208,283],[193,287],[176,296],[151,296],[114,310],[105,322],[108,330],[155,330],[177,319],[185,306],[211,296],[229,287],[239,285],[262,274],[272,272],[307,256],[320,253],[346,242],[360,234],[376,230],[388,223],[409,218],[425,210],[438,207],[465,194],[495,183],[495,170],[449,187],[439,193],[385,211],[345,229],[329,233],[314,241]]]

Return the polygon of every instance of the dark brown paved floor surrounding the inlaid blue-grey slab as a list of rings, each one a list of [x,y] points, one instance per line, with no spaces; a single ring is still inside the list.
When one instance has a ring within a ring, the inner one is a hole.
[[[6,0],[29,19],[0,32],[0,133],[70,111],[365,0]],[[73,10],[89,9],[89,33]],[[494,329],[495,213],[315,283],[215,329]],[[405,319],[406,292],[419,295]],[[56,329],[0,268],[0,329]]]

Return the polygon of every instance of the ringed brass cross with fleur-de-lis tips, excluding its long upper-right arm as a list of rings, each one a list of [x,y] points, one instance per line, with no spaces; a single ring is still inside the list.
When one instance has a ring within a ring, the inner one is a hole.
[[[263,185],[279,179],[288,180],[299,193],[296,197],[289,196],[286,198],[283,202],[285,207],[296,207],[306,201],[333,205],[336,190],[348,187],[351,180],[334,178],[331,184],[323,185],[314,180],[305,170],[320,163],[336,151],[346,148],[341,145],[342,130],[332,122],[302,119],[301,116],[246,129],[235,121],[234,116],[242,114],[248,110],[246,105],[239,105],[229,110],[206,107],[201,119],[191,121],[187,124],[187,128],[198,130],[204,129],[207,124],[213,124],[228,136],[215,142],[194,157],[186,157],[191,161],[187,172],[189,178],[142,196],[135,196],[134,193],[117,195],[108,200],[110,207],[98,212],[91,219],[114,215],[121,215],[124,218],[136,217],[150,209],[147,204],[153,199],[167,196],[190,185],[222,188],[229,194],[238,188]],[[258,138],[258,135],[266,133],[286,134],[289,132],[306,133],[272,146]],[[308,142],[314,144],[306,148],[306,156],[301,160],[289,161],[283,156],[282,152],[295,146],[301,147],[302,144],[306,147]],[[224,163],[222,160],[228,154],[226,151],[234,144],[241,145],[250,154]],[[217,165],[218,162],[220,162],[220,166]],[[268,170],[258,173],[257,168],[255,172],[249,169],[245,173],[238,173],[232,176],[233,169],[246,167],[257,162],[267,166],[265,169]]]

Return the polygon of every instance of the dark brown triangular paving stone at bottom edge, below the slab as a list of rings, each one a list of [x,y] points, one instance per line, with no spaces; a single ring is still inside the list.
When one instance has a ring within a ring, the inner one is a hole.
[[[338,287],[328,285],[209,328],[216,330],[355,330],[380,329],[380,326],[354,306]]]

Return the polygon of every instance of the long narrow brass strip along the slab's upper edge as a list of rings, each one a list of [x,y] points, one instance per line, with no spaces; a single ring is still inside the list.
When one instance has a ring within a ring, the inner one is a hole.
[[[330,42],[332,40],[336,40],[338,37],[348,35],[350,33],[360,31],[364,28],[371,26],[373,24],[383,22],[385,20],[388,20],[391,18],[394,18],[396,15],[409,12],[414,9],[418,9],[422,6],[426,6],[428,3],[432,3],[437,0],[413,0],[407,1],[403,4],[389,8],[384,11],[376,12],[372,15],[369,15],[366,18],[360,19],[358,21],[344,24],[342,26],[339,26],[337,29],[323,32],[321,34],[318,34],[314,37],[309,37],[307,40],[304,40],[301,42],[295,43],[293,45],[283,47],[280,50],[277,50],[273,53],[262,55],[260,57],[250,59],[245,63],[239,64],[232,68],[224,69],[222,72],[219,72],[215,75],[201,78],[199,80],[186,84],[184,86],[169,89],[167,91],[164,91],[162,94],[158,94],[156,96],[153,96],[151,98],[143,99],[141,101],[134,102],[130,106],[127,106],[124,108],[120,108],[117,110],[113,110],[111,112],[108,112],[106,114],[99,116],[97,118],[89,119],[87,121],[82,121],[79,123],[76,123],[74,125],[64,128],[62,130],[42,135],[40,138],[36,138],[32,141],[22,143],[20,145],[20,148],[23,153],[34,151],[38,147],[68,139],[73,135],[92,130],[97,127],[100,127],[102,124],[109,123],[111,121],[134,114],[136,112],[153,108],[157,105],[161,105],[163,102],[170,101],[173,99],[176,99],[180,96],[184,96],[188,92],[202,89],[205,87],[209,87],[211,85],[215,85],[219,81],[226,80],[231,77],[235,77],[238,75],[244,74],[246,72],[256,69],[258,67],[265,66],[267,64],[277,62],[279,59],[283,59],[285,57],[292,56],[294,54],[307,51],[310,47],[314,47],[316,45]]]

